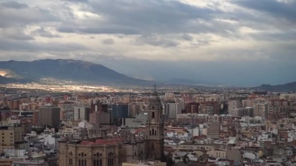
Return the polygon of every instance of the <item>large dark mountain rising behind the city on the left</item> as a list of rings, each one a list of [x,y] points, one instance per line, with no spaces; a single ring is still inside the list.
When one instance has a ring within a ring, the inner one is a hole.
[[[106,66],[72,59],[44,59],[32,62],[2,61],[0,72],[13,73],[12,78],[2,77],[3,82],[18,82],[26,79],[36,81],[41,78],[55,78],[71,80],[82,83],[95,83],[104,85],[144,85],[152,82],[134,79],[120,74]],[[15,78],[14,78],[15,77]],[[5,78],[5,79],[4,79]]]

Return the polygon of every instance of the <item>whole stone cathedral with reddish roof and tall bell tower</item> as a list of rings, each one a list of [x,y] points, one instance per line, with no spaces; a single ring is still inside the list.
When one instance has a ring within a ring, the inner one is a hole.
[[[161,160],[164,155],[164,121],[156,89],[148,103],[145,140],[60,140],[58,146],[58,166],[121,166],[124,162]]]

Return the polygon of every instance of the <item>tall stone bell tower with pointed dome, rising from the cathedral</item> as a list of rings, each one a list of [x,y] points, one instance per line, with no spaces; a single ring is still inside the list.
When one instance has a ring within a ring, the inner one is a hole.
[[[149,99],[148,120],[146,123],[148,159],[161,160],[164,154],[164,121],[162,111],[162,105],[154,84],[154,93]]]

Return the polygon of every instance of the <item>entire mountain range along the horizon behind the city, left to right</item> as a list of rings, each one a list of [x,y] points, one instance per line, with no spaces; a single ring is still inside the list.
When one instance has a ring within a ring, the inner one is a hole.
[[[2,84],[38,82],[42,78],[111,86],[150,86],[154,83],[128,77],[103,65],[79,60],[0,61],[0,83]],[[165,83],[172,85],[197,85],[197,82],[185,79],[171,79]],[[198,84],[201,85],[202,83]],[[248,89],[254,91],[290,92],[296,91],[296,82],[282,85],[263,84]]]

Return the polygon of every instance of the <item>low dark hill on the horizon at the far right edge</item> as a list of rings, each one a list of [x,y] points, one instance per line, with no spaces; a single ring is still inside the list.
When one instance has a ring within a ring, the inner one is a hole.
[[[258,91],[269,91],[269,92],[296,92],[296,82],[293,83],[286,83],[281,85],[269,85],[269,84],[262,84],[259,87],[255,87],[255,90]]]

